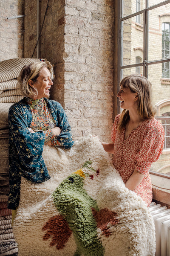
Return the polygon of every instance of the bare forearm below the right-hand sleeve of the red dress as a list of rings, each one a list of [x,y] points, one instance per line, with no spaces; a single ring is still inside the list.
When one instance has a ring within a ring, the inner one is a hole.
[[[137,188],[137,186],[139,186],[143,178],[144,178],[144,174],[141,174],[140,172],[137,172],[136,170],[134,170],[133,174],[125,183],[125,186],[130,190],[134,190]]]

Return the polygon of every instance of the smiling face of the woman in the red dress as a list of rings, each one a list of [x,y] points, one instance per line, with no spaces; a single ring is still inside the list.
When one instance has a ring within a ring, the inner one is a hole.
[[[137,93],[132,93],[129,88],[123,88],[120,86],[119,93],[117,93],[117,97],[119,98],[120,107],[129,110],[136,106],[136,101],[138,99]]]

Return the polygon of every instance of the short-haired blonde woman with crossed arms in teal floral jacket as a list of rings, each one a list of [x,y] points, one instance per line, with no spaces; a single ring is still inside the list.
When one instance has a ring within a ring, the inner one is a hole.
[[[16,209],[20,202],[21,176],[32,183],[50,179],[42,158],[43,145],[73,145],[65,111],[48,99],[53,84],[50,71],[43,61],[23,67],[19,84],[25,97],[9,109],[9,209]]]

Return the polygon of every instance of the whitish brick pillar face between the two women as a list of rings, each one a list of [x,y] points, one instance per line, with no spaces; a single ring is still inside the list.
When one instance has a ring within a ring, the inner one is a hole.
[[[113,122],[113,2],[67,0],[65,108],[76,137],[108,140]]]

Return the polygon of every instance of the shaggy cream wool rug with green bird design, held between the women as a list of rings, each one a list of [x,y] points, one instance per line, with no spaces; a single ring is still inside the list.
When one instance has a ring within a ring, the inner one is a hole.
[[[21,182],[13,223],[18,256],[154,256],[150,209],[128,190],[97,137],[44,146],[51,175]]]

